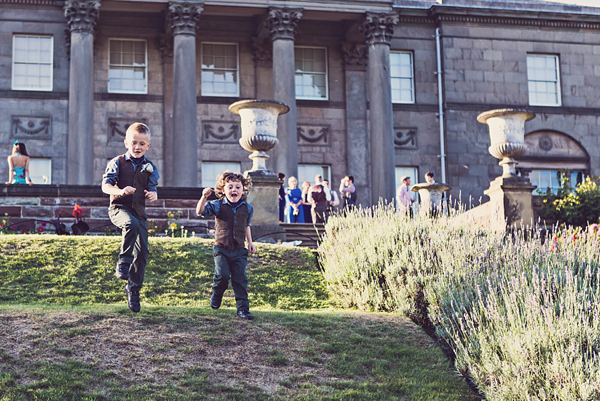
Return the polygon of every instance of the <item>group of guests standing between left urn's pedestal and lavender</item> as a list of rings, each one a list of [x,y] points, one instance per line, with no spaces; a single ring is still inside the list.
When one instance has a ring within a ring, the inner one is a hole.
[[[285,181],[285,174],[277,177]],[[356,204],[356,187],[354,177],[345,176],[340,182],[340,195],[329,184],[329,180],[321,175],[315,176],[313,185],[308,181],[298,188],[298,179],[288,178],[288,187],[279,187],[279,221],[286,223],[325,223],[335,208],[352,208]]]

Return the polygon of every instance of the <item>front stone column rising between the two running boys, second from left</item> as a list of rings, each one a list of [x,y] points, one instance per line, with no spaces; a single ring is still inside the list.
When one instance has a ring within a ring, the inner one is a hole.
[[[196,29],[203,6],[171,2],[173,32],[172,185],[198,185],[198,117],[196,108]]]

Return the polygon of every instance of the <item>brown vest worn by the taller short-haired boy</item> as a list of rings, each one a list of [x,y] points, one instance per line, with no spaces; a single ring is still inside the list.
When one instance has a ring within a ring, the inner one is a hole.
[[[146,159],[146,163],[150,163],[150,161]],[[148,189],[148,177],[150,173],[140,173],[139,170],[146,163],[140,163],[136,167],[135,164],[125,159],[125,155],[119,156],[117,186],[121,189],[127,186],[134,187],[135,192],[133,195],[127,196],[110,196],[111,205],[125,206],[129,210],[133,210],[141,218],[145,217],[146,214],[146,195],[144,194],[144,190]]]

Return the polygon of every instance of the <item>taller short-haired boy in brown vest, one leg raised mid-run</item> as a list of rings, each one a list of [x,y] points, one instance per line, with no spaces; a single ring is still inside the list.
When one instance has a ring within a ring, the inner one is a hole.
[[[125,133],[127,153],[108,162],[102,178],[102,192],[110,195],[108,216],[122,231],[121,252],[115,275],[128,280],[125,285],[127,304],[139,312],[140,288],[148,259],[146,199],[156,202],[158,169],[146,159],[150,148],[150,129],[134,123]]]

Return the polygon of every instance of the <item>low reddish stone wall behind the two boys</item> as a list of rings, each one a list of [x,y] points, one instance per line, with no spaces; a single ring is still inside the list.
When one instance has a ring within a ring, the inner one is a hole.
[[[197,235],[208,235],[214,227],[214,219],[196,216],[196,204],[202,196],[202,188],[158,188],[158,201],[147,203],[149,228],[164,232],[168,213],[178,217],[177,223]],[[214,195],[213,195],[214,196]],[[108,218],[109,198],[99,186],[88,185],[0,185],[0,222],[6,220],[17,231],[54,232],[53,222],[60,219],[67,230],[75,223],[72,217],[75,204],[84,209],[85,222],[91,233],[117,231]]]

